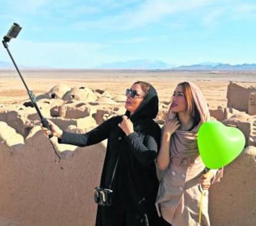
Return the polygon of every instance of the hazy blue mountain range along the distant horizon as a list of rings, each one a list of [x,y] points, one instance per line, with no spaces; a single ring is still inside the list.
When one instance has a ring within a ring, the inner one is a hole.
[[[11,62],[1,62],[0,69],[13,68]],[[31,68],[22,67],[22,68]],[[36,69],[36,67],[33,67]],[[39,68],[39,67],[38,67]],[[47,68],[47,67],[45,67]],[[53,68],[53,67],[51,67]],[[42,67],[40,67],[42,69]],[[64,68],[63,68],[64,69]],[[92,69],[92,68],[90,68]],[[204,62],[195,65],[175,66],[160,60],[129,60],[126,62],[106,63],[95,67],[95,69],[119,69],[119,70],[179,70],[179,71],[256,71],[256,63],[244,63],[241,65],[230,65],[228,63]]]

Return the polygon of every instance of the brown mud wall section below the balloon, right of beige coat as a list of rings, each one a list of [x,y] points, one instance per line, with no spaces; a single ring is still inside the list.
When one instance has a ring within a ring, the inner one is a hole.
[[[250,146],[224,167],[221,182],[210,188],[212,226],[255,225],[256,147]]]

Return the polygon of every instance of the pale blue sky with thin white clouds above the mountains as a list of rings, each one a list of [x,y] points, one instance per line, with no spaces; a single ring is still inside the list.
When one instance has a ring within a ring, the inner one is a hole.
[[[12,0],[1,1],[0,21],[2,37],[22,26],[9,50],[28,67],[256,63],[255,0]]]

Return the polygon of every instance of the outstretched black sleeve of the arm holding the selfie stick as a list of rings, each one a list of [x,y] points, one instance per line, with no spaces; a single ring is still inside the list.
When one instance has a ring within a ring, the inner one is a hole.
[[[95,129],[92,129],[92,131],[85,134],[63,131],[62,138],[58,139],[58,142],[77,145],[79,147],[100,143],[101,141],[108,139],[109,131],[111,129],[110,126],[111,119],[105,121],[100,124],[100,126],[97,126]]]

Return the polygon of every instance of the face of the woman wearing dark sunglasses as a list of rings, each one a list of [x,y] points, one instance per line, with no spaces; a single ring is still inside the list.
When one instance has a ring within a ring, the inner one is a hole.
[[[134,95],[134,98],[132,98],[131,92],[136,91],[137,94]],[[127,99],[126,99],[126,110],[130,111],[130,115],[132,115],[137,108],[139,108],[140,104],[144,100],[145,93],[142,91],[142,87],[140,84],[134,84],[132,87],[130,87],[129,92],[127,93]]]

